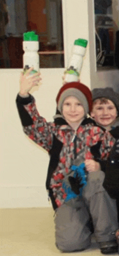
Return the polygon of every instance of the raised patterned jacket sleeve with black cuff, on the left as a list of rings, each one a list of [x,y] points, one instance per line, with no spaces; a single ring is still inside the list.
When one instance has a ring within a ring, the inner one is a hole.
[[[49,151],[52,147],[53,124],[47,123],[43,117],[39,116],[35,99],[31,94],[27,98],[18,94],[16,104],[25,134],[39,146]]]

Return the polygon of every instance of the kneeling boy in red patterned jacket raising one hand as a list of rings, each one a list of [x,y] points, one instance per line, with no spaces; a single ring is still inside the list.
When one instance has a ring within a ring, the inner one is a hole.
[[[90,148],[100,142],[101,158],[107,159],[114,139],[108,131],[103,131],[87,118],[92,106],[91,92],[80,82],[70,82],[61,87],[56,98],[54,122],[47,123],[39,116],[35,99],[29,94],[32,86],[39,81],[36,75],[29,77],[30,71],[21,75],[21,88],[16,103],[24,132],[50,155],[46,186],[56,211],[56,246],[63,252],[82,251],[90,246],[91,216],[101,252],[117,252],[115,200],[110,199],[100,182],[94,181],[90,186],[92,172],[87,179],[88,193],[85,190],[77,198],[78,207],[67,204],[65,199],[68,194],[63,188],[63,181],[80,152],[83,151],[84,159],[93,159]]]

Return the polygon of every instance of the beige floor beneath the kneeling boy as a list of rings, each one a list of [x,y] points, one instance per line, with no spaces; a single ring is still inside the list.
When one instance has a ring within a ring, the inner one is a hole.
[[[0,209],[0,256],[57,256],[54,211],[52,208]],[[63,256],[98,256],[93,242],[84,252],[63,253]],[[118,254],[115,254],[118,255]]]

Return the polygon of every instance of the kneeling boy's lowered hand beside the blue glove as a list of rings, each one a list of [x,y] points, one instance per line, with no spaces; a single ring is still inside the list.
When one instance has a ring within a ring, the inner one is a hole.
[[[92,159],[85,160],[85,168],[89,172],[101,170],[100,163]]]

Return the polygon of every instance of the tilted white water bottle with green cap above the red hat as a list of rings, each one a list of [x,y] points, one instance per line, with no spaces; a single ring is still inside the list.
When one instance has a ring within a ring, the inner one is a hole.
[[[67,71],[64,72],[64,82],[78,81],[87,43],[85,39],[75,40]]]

